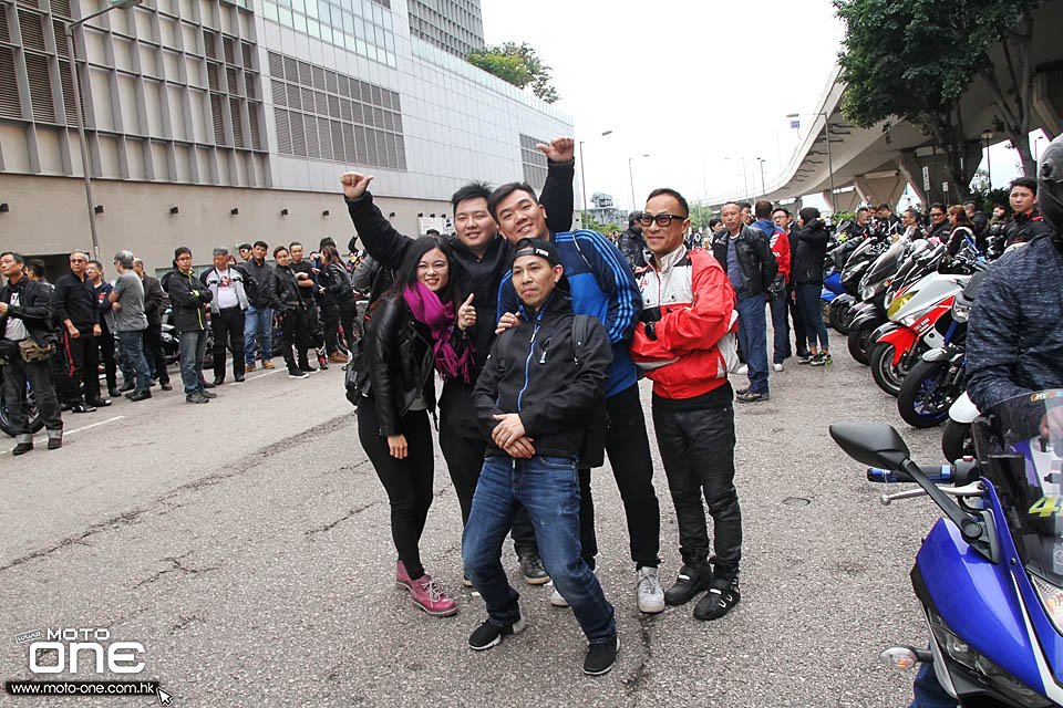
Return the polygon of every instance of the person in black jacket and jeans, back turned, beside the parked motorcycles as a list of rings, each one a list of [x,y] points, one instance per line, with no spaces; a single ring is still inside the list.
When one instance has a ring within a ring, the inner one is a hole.
[[[815,207],[805,207],[797,212],[797,228],[793,239],[797,242],[794,251],[794,262],[791,268],[791,280],[794,282],[797,310],[801,312],[805,325],[805,335],[808,337],[808,356],[798,357],[799,364],[826,366],[830,363],[829,340],[827,327],[823,323],[823,310],[819,306],[819,294],[823,292],[823,259],[827,253],[827,243],[830,235],[819,218],[819,210]],[[818,340],[817,348],[816,342]]]

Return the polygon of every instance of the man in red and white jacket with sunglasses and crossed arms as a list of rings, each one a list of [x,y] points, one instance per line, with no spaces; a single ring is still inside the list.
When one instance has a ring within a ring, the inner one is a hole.
[[[742,512],[734,489],[734,289],[709,251],[687,251],[687,200],[650,192],[642,235],[653,254],[638,273],[642,315],[631,358],[653,381],[653,427],[679,521],[683,566],[664,602],[681,605],[709,591],[694,617],[718,620],[739,602]],[[730,363],[729,363],[730,362]],[[711,559],[702,492],[713,520]]]

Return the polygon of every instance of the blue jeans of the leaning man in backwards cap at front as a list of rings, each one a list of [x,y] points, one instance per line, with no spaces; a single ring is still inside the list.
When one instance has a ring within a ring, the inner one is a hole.
[[[588,641],[611,641],[617,636],[612,605],[580,556],[576,461],[561,457],[491,456],[484,460],[462,537],[462,560],[484,597],[491,622],[506,626],[520,618],[519,595],[509,585],[500,560],[502,543],[519,506],[532,519],[546,572],[571,605]]]

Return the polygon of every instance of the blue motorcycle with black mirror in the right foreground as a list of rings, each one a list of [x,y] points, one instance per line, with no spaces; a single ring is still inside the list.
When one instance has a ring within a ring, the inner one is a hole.
[[[927,494],[945,516],[911,571],[929,649],[891,647],[883,660],[906,669],[922,663],[923,700],[1063,706],[1063,389],[983,412],[972,425],[974,459],[946,469],[914,462],[887,425],[833,425],[830,436],[857,461],[883,468],[869,479],[919,486],[883,503]]]

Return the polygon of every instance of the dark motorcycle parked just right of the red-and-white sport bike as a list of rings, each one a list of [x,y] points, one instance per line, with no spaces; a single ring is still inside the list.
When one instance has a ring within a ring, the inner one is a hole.
[[[952,342],[922,354],[900,384],[897,410],[905,423],[912,427],[930,428],[945,423],[952,404],[963,394],[966,346],[960,330],[967,325],[974,295],[983,279],[984,273],[977,273],[956,296],[951,317],[957,323],[958,332]]]

